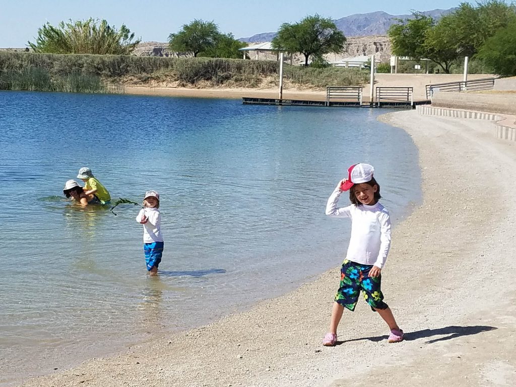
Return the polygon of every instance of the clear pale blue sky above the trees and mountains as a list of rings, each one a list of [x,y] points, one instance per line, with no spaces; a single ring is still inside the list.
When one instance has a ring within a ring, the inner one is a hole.
[[[275,32],[307,15],[340,19],[353,13],[408,14],[456,7],[460,0],[0,0],[0,47],[25,47],[46,22],[106,19],[125,24],[142,41],[167,41],[193,19],[214,21],[235,38]],[[476,4],[475,1],[470,1]]]

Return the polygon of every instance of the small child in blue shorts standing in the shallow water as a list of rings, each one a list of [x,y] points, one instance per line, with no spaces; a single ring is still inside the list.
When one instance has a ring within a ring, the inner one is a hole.
[[[143,207],[136,221],[143,224],[143,252],[147,270],[151,276],[156,276],[163,255],[163,236],[161,233],[161,214],[159,213],[159,193],[145,192]]]

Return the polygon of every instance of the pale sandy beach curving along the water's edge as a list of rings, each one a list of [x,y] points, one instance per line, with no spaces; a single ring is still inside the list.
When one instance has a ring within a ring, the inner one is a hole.
[[[420,151],[423,203],[394,229],[382,281],[406,341],[388,344],[384,322],[360,302],[344,314],[337,346],[321,345],[335,257],[334,269],[248,311],[22,385],[512,385],[516,151],[480,120],[414,110],[380,120]]]

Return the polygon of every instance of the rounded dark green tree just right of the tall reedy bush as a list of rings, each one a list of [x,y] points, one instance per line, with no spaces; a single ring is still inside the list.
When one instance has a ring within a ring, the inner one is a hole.
[[[176,52],[191,52],[194,57],[200,52],[214,49],[219,28],[213,22],[193,20],[190,24],[184,24],[182,29],[168,36],[169,49]]]

